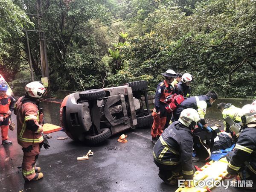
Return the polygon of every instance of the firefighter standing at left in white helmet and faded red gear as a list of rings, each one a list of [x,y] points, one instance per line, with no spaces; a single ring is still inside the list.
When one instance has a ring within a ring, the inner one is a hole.
[[[43,114],[38,107],[39,98],[44,91],[43,83],[33,81],[26,85],[25,96],[20,97],[15,104],[17,140],[23,150],[21,167],[25,181],[38,180],[44,176],[41,168],[35,166],[42,145],[49,148],[48,141],[42,134]]]

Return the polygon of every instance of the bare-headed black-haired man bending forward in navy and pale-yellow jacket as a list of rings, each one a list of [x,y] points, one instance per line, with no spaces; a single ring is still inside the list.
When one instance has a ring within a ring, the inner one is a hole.
[[[206,95],[203,96],[193,96],[185,99],[176,109],[174,112],[174,120],[177,121],[179,119],[181,111],[183,111],[186,108],[193,108],[198,111],[198,114],[201,118],[200,122],[198,123],[198,126],[201,129],[207,130],[208,132],[211,132],[212,129],[206,124],[204,120],[204,116],[206,113],[206,109],[211,107],[213,102],[218,99],[218,94],[215,93],[215,91],[209,91]]]

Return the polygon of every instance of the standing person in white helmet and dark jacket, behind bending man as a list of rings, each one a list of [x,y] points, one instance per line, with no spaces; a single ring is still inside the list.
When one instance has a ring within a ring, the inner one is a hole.
[[[190,97],[190,83],[193,80],[192,75],[189,73],[184,73],[181,77],[181,81],[178,83],[178,94],[182,95],[184,98]]]

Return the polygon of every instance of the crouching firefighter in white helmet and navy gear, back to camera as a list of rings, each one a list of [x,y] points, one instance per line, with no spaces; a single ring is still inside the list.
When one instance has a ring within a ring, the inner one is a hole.
[[[159,168],[158,176],[169,185],[177,180],[192,180],[193,139],[192,129],[200,121],[195,109],[187,108],[180,113],[180,118],[166,128],[154,145],[154,163]]]

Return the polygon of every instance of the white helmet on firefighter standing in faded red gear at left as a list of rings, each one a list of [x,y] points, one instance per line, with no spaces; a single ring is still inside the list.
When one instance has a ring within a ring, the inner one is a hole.
[[[26,85],[25,91],[31,97],[40,98],[43,96],[45,88],[42,82],[33,81]]]

